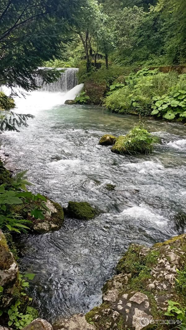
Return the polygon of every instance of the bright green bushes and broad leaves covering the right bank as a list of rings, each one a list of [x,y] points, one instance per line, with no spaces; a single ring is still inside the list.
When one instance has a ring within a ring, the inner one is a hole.
[[[141,116],[155,115],[165,119],[184,119],[184,75],[144,69],[125,77],[124,82],[126,86],[114,90],[104,99],[104,105],[110,111]],[[171,117],[166,116],[168,111],[174,114]]]

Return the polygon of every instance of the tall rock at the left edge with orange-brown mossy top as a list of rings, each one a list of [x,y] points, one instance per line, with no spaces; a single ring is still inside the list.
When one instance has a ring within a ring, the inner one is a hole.
[[[10,252],[5,236],[0,230],[0,286],[3,295],[0,297],[0,307],[9,306],[13,300],[13,292],[18,286],[18,266]]]

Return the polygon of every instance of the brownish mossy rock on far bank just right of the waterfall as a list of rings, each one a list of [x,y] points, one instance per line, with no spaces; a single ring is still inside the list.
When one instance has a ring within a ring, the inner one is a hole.
[[[84,84],[86,95],[90,97],[89,101],[93,104],[101,104],[102,98],[106,91],[106,82],[96,83],[91,80],[86,81]]]

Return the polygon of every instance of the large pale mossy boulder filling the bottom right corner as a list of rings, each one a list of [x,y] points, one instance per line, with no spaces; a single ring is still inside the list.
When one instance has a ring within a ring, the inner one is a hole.
[[[139,330],[148,325],[139,327],[142,318],[149,323],[150,319],[167,319],[164,314],[169,300],[185,309],[185,270],[186,234],[151,248],[131,244],[116,267],[117,275],[102,289],[103,304],[85,315],[87,322],[93,322],[98,330],[105,324],[108,330]],[[161,329],[166,330],[167,325]]]

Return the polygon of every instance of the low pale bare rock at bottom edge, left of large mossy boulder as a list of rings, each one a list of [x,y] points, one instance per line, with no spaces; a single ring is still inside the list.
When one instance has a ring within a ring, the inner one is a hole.
[[[95,327],[89,324],[83,314],[76,314],[66,319],[59,319],[54,325],[54,330],[95,330]]]

